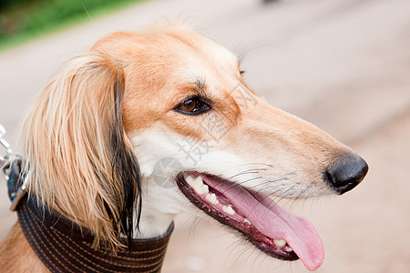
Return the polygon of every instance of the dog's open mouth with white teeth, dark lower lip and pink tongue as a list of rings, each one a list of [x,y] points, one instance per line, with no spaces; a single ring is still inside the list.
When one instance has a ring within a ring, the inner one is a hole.
[[[323,263],[322,241],[313,225],[279,207],[272,198],[239,184],[197,172],[179,173],[182,193],[220,223],[239,230],[273,258],[300,258],[309,270]]]

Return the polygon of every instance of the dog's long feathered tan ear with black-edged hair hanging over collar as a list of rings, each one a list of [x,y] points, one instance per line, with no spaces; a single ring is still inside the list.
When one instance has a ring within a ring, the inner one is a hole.
[[[31,107],[23,126],[29,189],[95,236],[95,246],[132,238],[140,214],[137,158],[122,117],[125,77],[100,54],[72,60]],[[138,226],[138,225],[137,225]]]

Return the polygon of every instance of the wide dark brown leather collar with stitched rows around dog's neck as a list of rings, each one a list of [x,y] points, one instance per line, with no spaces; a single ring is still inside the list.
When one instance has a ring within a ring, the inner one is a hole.
[[[8,181],[10,193],[21,190],[21,179],[14,175]],[[80,230],[52,209],[37,207],[36,197],[24,195],[17,202],[10,195],[12,204],[28,243],[51,272],[160,272],[173,223],[164,236],[135,239],[130,250],[118,249],[112,254],[104,248],[92,248],[93,237],[86,229]]]

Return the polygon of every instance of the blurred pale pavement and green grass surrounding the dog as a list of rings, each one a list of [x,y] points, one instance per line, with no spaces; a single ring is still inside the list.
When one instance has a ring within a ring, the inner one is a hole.
[[[345,196],[289,206],[323,239],[317,272],[410,272],[408,0],[2,0],[0,123],[7,139],[70,57],[110,32],[166,20],[244,54],[252,89],[368,162],[362,185]],[[15,222],[8,206],[2,179],[0,238]],[[182,215],[176,224],[165,273],[307,271],[299,261],[262,255],[213,220]]]

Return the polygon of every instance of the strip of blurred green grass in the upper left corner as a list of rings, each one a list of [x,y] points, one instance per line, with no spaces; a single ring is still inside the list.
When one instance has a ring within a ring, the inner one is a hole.
[[[146,0],[15,0],[0,5],[0,50]]]

